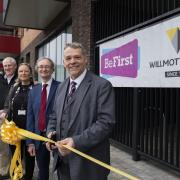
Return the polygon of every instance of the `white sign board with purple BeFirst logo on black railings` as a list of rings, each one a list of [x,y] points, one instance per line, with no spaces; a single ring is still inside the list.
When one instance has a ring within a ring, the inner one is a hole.
[[[180,87],[180,16],[100,44],[100,76],[114,87]]]

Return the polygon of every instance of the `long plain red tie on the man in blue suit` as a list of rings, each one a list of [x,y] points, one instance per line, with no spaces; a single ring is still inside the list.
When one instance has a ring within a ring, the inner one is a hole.
[[[47,101],[47,84],[43,84],[43,89],[41,92],[41,105],[39,110],[39,121],[38,127],[41,132],[46,128],[46,101]]]

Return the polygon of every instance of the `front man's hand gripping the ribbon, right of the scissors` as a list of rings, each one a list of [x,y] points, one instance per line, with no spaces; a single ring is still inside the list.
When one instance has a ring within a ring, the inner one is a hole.
[[[71,151],[65,148],[63,145],[67,145],[73,148],[75,147],[75,144],[72,138],[66,138],[66,139],[63,139],[62,141],[57,141],[55,145],[57,146],[62,156],[66,156],[71,153]]]

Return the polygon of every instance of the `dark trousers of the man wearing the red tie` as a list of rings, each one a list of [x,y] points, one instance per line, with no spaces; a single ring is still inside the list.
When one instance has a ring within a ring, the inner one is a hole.
[[[36,150],[36,160],[39,168],[38,180],[49,180],[50,152],[42,142]]]

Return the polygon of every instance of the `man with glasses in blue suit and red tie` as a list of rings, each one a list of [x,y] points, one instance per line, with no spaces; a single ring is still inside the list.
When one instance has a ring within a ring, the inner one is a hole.
[[[54,97],[59,82],[52,78],[54,63],[51,59],[40,58],[37,61],[37,71],[42,79],[42,83],[34,86],[29,92],[26,128],[31,132],[45,136],[49,114],[52,113]],[[50,153],[46,149],[45,144],[28,139],[27,145],[30,155],[36,156],[39,168],[38,180],[48,180]]]

